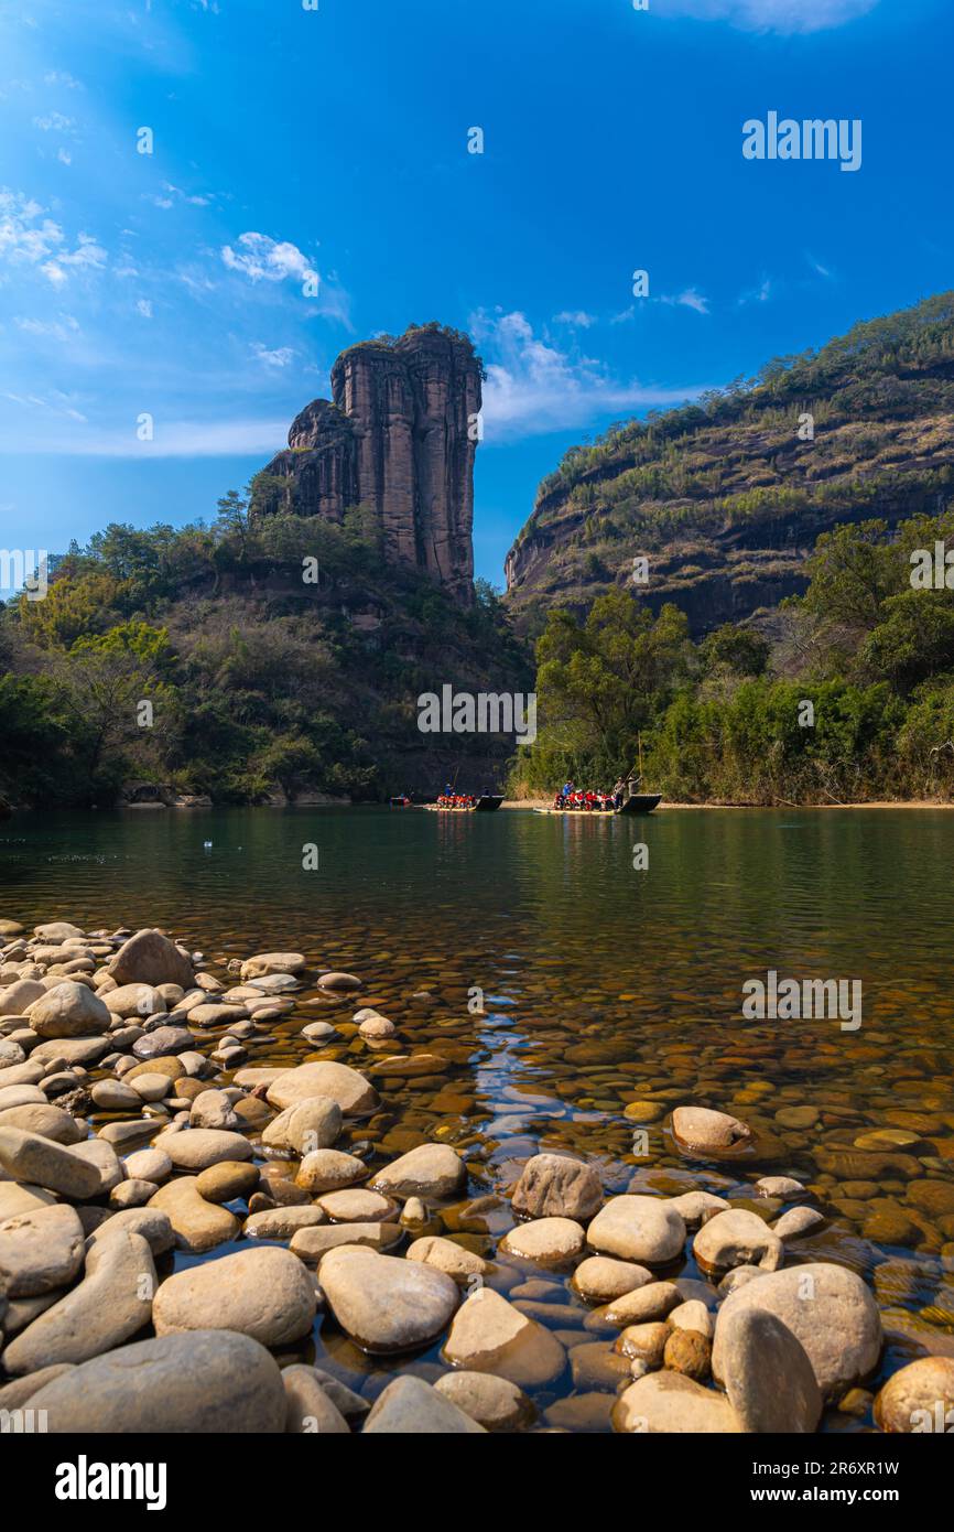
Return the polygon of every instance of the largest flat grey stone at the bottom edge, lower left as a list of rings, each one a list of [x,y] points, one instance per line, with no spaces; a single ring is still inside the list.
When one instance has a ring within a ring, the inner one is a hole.
[[[271,1434],[286,1397],[273,1356],[250,1336],[193,1330],[126,1345],[34,1396],[49,1431]]]

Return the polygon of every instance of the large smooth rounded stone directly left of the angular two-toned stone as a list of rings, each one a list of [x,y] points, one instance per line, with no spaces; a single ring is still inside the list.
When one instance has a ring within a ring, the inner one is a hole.
[[[331,1310],[364,1351],[413,1351],[446,1328],[456,1282],[420,1261],[374,1250],[331,1250],[319,1273]]]

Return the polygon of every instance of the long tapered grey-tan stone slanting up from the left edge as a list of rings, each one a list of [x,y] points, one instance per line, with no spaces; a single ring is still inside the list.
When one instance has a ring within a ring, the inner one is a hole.
[[[34,1373],[112,1351],[149,1324],[155,1290],[156,1268],[141,1235],[124,1230],[90,1246],[83,1281],[11,1340],[5,1368]]]

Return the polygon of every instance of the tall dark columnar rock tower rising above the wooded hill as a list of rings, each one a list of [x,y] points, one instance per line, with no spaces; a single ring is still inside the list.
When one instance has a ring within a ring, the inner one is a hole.
[[[288,481],[280,509],[341,522],[363,506],[387,562],[412,565],[470,602],[481,374],[470,340],[438,325],[341,352],[331,369],[334,403],[308,404],[288,450],[265,470]]]

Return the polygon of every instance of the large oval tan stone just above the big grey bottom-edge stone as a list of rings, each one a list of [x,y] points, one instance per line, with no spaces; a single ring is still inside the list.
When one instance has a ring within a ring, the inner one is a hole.
[[[315,1290],[302,1261],[265,1246],[176,1272],[153,1301],[158,1336],[181,1330],[234,1330],[266,1347],[288,1345],[311,1330]]]

